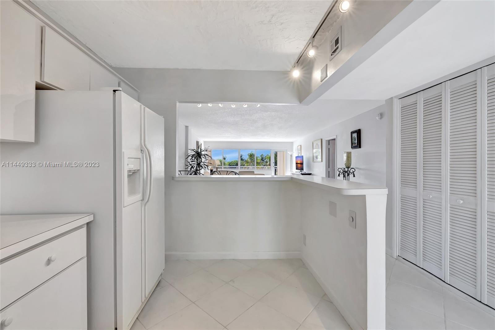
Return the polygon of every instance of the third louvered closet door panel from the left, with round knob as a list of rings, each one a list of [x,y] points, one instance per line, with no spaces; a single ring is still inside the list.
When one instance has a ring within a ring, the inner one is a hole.
[[[480,299],[479,111],[481,69],[447,82],[447,283]]]

